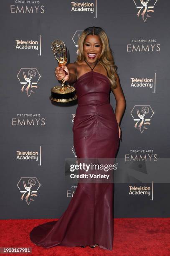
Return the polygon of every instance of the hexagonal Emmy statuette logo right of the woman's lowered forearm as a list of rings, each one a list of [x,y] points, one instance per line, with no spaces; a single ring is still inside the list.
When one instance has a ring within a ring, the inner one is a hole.
[[[154,112],[150,105],[135,105],[131,111],[132,118],[135,121],[134,128],[143,133],[148,129],[147,125],[150,125],[153,114]]]

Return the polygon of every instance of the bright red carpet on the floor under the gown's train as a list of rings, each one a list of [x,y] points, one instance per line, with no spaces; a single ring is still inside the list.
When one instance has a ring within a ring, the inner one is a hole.
[[[30,230],[36,225],[53,220],[57,219],[0,220],[0,247],[32,247],[32,255],[41,256],[170,255],[170,218],[115,218],[113,251],[99,247],[91,249],[89,246],[86,248],[64,246],[41,248],[31,243]],[[20,253],[18,255],[30,254]]]

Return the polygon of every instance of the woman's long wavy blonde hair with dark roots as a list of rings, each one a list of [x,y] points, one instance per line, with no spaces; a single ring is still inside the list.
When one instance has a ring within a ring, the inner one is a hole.
[[[115,76],[115,73],[117,73],[117,66],[114,64],[114,57],[109,46],[109,39],[102,28],[89,27],[82,32],[78,41],[78,56],[76,62],[81,63],[85,59],[83,46],[86,36],[88,35],[97,35],[101,40],[102,49],[98,61],[107,69],[107,75],[111,82],[111,90],[114,90],[117,88],[117,78]]]

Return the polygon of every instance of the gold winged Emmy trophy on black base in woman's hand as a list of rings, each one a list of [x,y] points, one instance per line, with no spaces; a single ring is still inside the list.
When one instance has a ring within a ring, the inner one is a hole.
[[[51,44],[51,49],[55,58],[58,61],[58,66],[66,65],[67,63],[67,49],[63,41],[54,40]],[[67,74],[67,73],[66,73]],[[57,85],[51,88],[50,100],[54,102],[71,102],[77,99],[76,90],[73,86],[65,85],[65,80],[61,80],[61,86]]]

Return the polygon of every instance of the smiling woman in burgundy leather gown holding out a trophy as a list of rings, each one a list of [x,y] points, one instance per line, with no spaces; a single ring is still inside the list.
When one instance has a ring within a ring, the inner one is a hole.
[[[109,41],[102,28],[86,28],[79,38],[77,61],[56,67],[58,80],[74,84],[78,107],[74,117],[77,158],[113,159],[121,139],[125,98]],[[116,110],[109,103],[112,90]],[[38,246],[90,246],[111,250],[113,243],[113,183],[78,183],[68,208],[58,221],[33,228]]]

